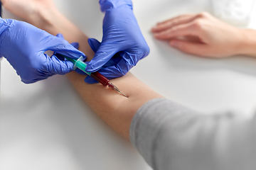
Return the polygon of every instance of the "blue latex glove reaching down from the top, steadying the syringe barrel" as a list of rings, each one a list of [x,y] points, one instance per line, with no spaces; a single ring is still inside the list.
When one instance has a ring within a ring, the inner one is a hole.
[[[139,60],[149,55],[149,47],[132,12],[132,1],[100,0],[100,6],[105,12],[103,38],[101,43],[95,39],[88,40],[92,50],[97,52],[87,63],[86,71],[100,69],[98,72],[108,79],[122,77]],[[87,77],[85,82],[96,81]]]

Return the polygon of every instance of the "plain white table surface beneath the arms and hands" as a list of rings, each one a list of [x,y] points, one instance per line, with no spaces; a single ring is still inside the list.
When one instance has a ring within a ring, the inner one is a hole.
[[[84,33],[101,40],[103,14],[97,0],[55,3]],[[151,53],[132,73],[159,94],[196,111],[250,115],[256,108],[256,59],[186,55],[150,33],[158,21],[200,11],[211,11],[209,1],[134,0],[134,13]],[[4,11],[4,17],[14,16]],[[65,76],[23,84],[2,60],[0,169],[151,168],[129,142],[90,110]]]

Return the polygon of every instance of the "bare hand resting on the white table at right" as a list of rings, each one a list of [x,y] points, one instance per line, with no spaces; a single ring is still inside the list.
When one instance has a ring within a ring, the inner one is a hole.
[[[248,51],[245,30],[205,12],[171,18],[158,23],[152,32],[159,40],[170,40],[169,44],[178,50],[203,57],[228,57]]]

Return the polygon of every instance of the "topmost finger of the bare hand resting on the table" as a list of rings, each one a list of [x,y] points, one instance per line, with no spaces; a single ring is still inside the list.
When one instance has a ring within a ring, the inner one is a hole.
[[[168,28],[171,28],[173,26],[177,26],[179,24],[189,23],[189,22],[193,21],[195,18],[196,18],[196,15],[193,15],[193,14],[177,16],[175,18],[171,18],[162,23],[158,23],[156,26],[154,26],[154,28],[152,28],[152,32],[153,33],[160,32],[160,31],[166,30]]]

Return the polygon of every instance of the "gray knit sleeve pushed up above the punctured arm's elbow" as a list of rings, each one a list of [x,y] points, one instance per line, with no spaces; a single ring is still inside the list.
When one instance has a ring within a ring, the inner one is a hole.
[[[205,115],[156,98],[134,115],[130,140],[155,170],[256,169],[255,118]]]

